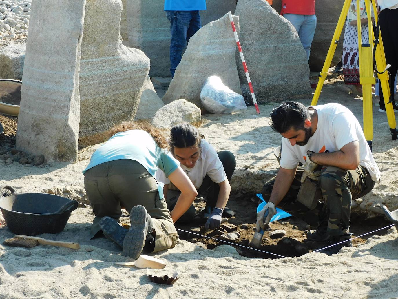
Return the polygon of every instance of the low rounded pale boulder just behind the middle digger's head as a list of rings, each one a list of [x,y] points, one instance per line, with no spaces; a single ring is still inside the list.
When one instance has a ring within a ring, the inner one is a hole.
[[[199,126],[201,118],[201,111],[197,106],[184,99],[180,99],[156,111],[150,123],[157,128],[170,130],[181,122],[189,122],[194,126]]]

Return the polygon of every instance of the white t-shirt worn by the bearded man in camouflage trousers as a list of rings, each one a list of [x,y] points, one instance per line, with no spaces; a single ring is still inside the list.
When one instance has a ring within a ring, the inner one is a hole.
[[[282,138],[281,167],[294,169],[298,162],[305,164],[307,150],[322,153],[338,151],[346,144],[359,142],[359,165],[365,167],[373,181],[380,179],[380,170],[363,134],[361,125],[352,112],[337,103],[314,106],[318,112],[318,126],[305,146],[291,146],[289,139]]]

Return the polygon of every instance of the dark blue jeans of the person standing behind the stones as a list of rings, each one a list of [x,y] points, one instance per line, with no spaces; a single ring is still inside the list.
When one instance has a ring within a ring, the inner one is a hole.
[[[177,65],[181,61],[182,51],[187,41],[201,28],[200,15],[198,10],[167,10],[166,16],[170,21],[172,41],[170,43],[170,72],[174,77]]]

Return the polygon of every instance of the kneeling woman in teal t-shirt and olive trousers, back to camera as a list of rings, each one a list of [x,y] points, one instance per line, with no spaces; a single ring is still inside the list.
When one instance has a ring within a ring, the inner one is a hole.
[[[83,171],[84,188],[95,215],[90,238],[102,230],[134,259],[142,250],[156,252],[174,247],[178,240],[174,222],[193,203],[195,187],[156,128],[125,122],[111,135]],[[157,169],[181,190],[172,212],[163,198],[162,184],[154,179]],[[121,207],[130,211],[130,230],[119,224]]]

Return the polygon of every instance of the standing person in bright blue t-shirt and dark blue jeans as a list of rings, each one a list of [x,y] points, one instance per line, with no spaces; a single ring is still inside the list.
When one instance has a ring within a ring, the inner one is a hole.
[[[201,28],[199,10],[206,10],[206,0],[164,0],[164,10],[170,21],[170,72],[174,77],[186,42]]]

